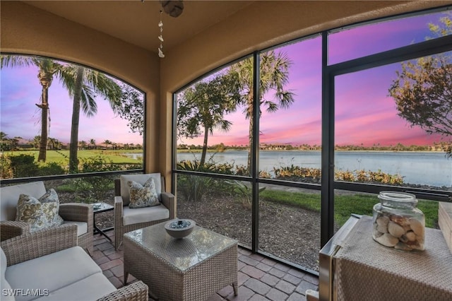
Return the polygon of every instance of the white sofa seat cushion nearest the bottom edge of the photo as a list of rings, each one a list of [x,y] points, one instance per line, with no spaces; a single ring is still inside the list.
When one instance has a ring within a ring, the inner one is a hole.
[[[104,276],[103,273],[95,273],[81,281],[73,283],[59,290],[49,293],[48,296],[35,300],[40,301],[88,301],[97,300],[109,293],[116,291],[114,285]]]

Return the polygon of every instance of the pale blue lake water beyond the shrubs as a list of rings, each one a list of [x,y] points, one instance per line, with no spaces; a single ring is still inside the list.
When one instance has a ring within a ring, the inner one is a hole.
[[[177,153],[177,160],[201,159],[201,153]],[[208,153],[206,160],[215,163],[246,165],[247,151]],[[259,169],[271,172],[273,167],[297,165],[321,168],[320,151],[261,151]],[[452,187],[452,158],[433,152],[338,151],[335,153],[337,170],[381,170],[401,175],[403,182],[437,187]]]

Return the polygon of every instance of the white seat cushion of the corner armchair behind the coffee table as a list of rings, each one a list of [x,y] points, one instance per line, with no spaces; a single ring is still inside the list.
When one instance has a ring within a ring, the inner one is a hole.
[[[123,207],[122,223],[124,225],[147,223],[154,220],[163,220],[165,218],[169,218],[169,210],[161,204],[145,208]]]

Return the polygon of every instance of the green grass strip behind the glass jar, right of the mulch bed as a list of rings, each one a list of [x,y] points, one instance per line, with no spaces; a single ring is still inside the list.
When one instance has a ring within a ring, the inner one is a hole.
[[[273,203],[283,203],[320,212],[320,194],[266,189],[259,196]],[[352,213],[372,216],[372,208],[376,203],[379,203],[379,199],[370,194],[336,194],[334,203],[335,223],[339,226],[343,225]],[[425,215],[426,227],[438,227],[438,202],[420,200],[417,208]]]

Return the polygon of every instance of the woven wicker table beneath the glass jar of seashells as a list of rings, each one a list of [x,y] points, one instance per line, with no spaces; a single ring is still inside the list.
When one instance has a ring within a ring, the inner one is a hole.
[[[374,242],[362,216],[334,256],[338,301],[452,300],[452,254],[442,232],[425,228],[425,250],[403,252]]]

